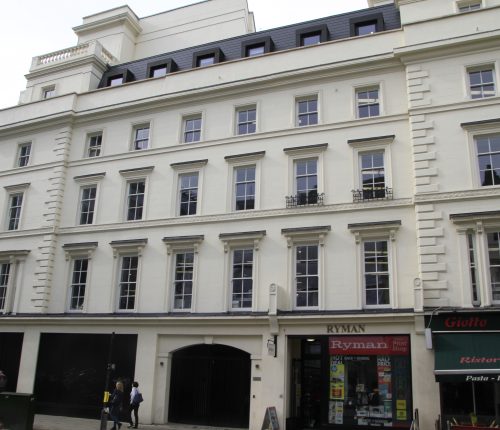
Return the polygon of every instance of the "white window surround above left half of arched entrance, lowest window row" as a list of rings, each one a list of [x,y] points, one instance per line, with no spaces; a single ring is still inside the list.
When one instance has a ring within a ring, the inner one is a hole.
[[[171,312],[189,312],[194,313],[197,309],[197,286],[198,286],[198,267],[199,267],[199,247],[204,240],[203,235],[198,236],[172,236],[164,237],[163,243],[167,247],[167,265],[168,279],[165,296],[165,309]],[[176,309],[174,307],[175,297],[175,268],[177,254],[181,252],[193,252],[193,279],[191,287],[191,308]]]

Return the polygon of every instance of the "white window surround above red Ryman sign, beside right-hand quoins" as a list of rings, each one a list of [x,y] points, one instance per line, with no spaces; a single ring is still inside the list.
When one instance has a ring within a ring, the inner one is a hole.
[[[356,242],[356,273],[358,284],[356,289],[356,307],[358,309],[397,309],[399,307],[396,234],[400,226],[401,221],[382,221],[348,225],[349,230],[354,234]],[[366,303],[364,243],[374,241],[387,242],[389,303],[383,305],[368,305]]]

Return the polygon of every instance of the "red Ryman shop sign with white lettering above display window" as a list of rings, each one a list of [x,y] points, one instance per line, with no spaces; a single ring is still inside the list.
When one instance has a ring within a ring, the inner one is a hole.
[[[330,355],[408,355],[407,336],[330,336]]]

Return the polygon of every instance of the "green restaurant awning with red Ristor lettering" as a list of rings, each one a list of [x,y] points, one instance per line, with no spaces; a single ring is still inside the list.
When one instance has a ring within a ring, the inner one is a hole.
[[[500,333],[435,333],[436,381],[500,382]]]

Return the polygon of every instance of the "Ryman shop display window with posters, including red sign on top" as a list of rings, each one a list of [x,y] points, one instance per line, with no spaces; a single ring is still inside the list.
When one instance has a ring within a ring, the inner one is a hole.
[[[328,424],[382,428],[410,425],[408,336],[331,336],[328,352]]]

